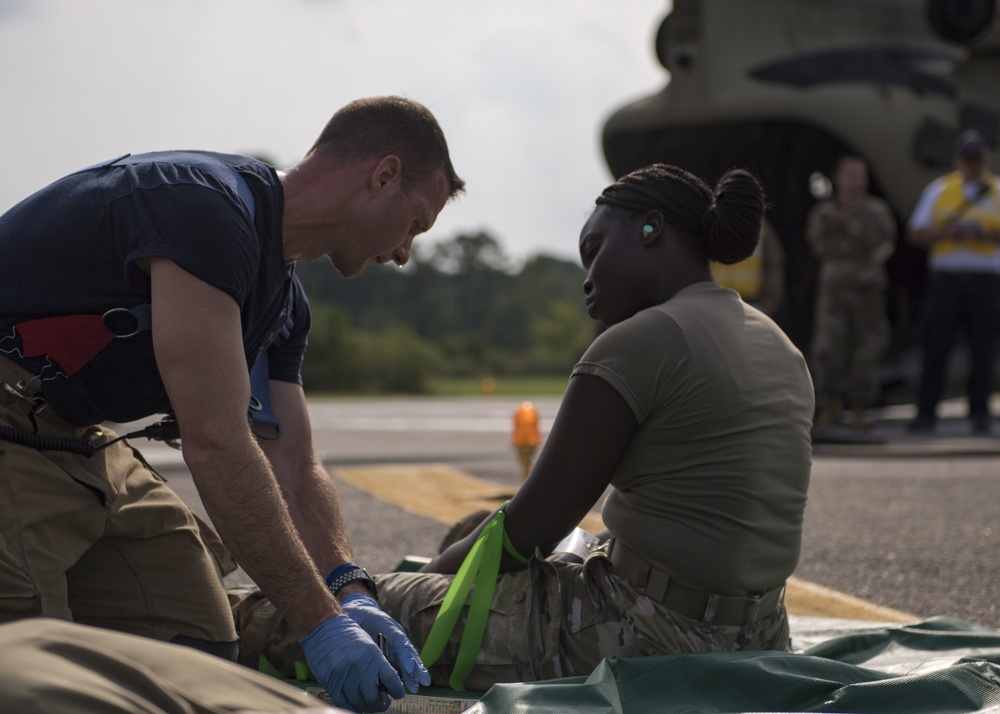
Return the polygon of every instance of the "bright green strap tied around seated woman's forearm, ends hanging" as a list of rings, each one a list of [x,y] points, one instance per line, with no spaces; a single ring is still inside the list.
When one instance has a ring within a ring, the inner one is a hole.
[[[420,659],[424,661],[425,666],[431,667],[437,662],[438,657],[444,652],[452,632],[455,631],[458,618],[462,614],[462,606],[475,584],[476,589],[472,593],[472,602],[469,604],[469,614],[465,620],[465,631],[462,633],[462,641],[458,647],[455,667],[448,680],[451,688],[455,690],[464,688],[465,680],[476,663],[476,654],[483,644],[486,619],[489,616],[490,604],[493,602],[493,591],[496,589],[503,551],[506,550],[518,562],[524,564],[528,562],[528,559],[518,553],[510,539],[507,538],[507,532],[503,527],[506,507],[506,503],[500,507],[496,516],[486,524],[483,532],[469,550],[469,554],[462,562],[462,566],[458,569],[455,579],[452,580],[451,586],[444,596],[441,608],[431,626],[430,634],[420,652]]]

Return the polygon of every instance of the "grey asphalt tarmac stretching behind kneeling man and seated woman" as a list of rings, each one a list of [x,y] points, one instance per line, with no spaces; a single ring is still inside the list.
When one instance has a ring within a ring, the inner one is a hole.
[[[435,552],[448,526],[347,483],[338,468],[444,464],[514,489],[520,469],[509,439],[521,401],[310,400],[314,445],[337,482],[358,562],[391,570],[405,555]],[[559,400],[531,401],[544,433]],[[1000,403],[993,406],[1000,412]],[[991,436],[972,436],[961,412],[960,403],[943,405],[929,435],[906,433],[907,406],[873,411],[867,434],[835,428],[816,435],[798,578],[919,618],[1000,627],[1000,424]],[[141,440],[136,446],[201,509],[179,452]],[[420,488],[415,477],[414,493]],[[405,505],[406,497],[397,500]],[[232,584],[245,582],[241,573],[231,576]]]

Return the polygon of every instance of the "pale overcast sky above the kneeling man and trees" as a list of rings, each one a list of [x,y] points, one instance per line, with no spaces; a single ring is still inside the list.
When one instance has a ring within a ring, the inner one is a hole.
[[[429,240],[487,230],[576,256],[611,181],[604,119],[659,91],[669,0],[0,0],[0,211],[127,152],[288,166],[329,116],[401,94],[444,128],[467,194]]]

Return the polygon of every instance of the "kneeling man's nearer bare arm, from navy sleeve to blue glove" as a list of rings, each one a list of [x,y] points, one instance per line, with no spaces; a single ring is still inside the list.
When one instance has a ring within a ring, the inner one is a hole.
[[[261,590],[304,635],[341,613],[299,538],[247,424],[236,302],[170,260],[150,261],[153,347],[205,509]]]

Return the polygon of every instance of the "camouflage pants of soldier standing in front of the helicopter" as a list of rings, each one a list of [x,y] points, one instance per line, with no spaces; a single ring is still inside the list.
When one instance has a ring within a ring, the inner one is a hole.
[[[839,395],[852,366],[851,404],[873,405],[878,397],[878,363],[889,344],[884,290],[876,285],[823,286],[813,331],[816,394]]]

